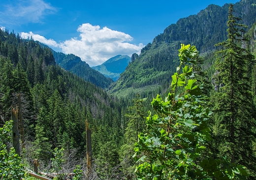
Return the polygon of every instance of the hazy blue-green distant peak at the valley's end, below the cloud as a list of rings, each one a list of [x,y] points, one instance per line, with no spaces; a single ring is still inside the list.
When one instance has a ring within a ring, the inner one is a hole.
[[[101,65],[97,65],[92,68],[104,76],[111,78],[113,81],[117,81],[120,74],[126,70],[126,67],[130,61],[131,59],[127,55],[117,55],[109,60],[106,60]]]

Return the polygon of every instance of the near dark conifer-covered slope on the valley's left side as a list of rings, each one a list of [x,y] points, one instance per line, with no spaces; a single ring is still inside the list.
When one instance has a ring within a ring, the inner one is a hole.
[[[97,167],[111,169],[117,165],[117,151],[126,128],[127,102],[108,96],[103,89],[56,65],[50,48],[0,30],[0,127],[11,120],[18,94],[25,139],[22,153],[28,166],[33,166],[31,162],[36,158],[41,162],[41,170],[50,168],[55,148],[64,148],[69,155],[69,150],[74,152],[74,161],[83,158],[86,120],[93,132]],[[112,155],[104,160],[106,147]],[[75,164],[70,164],[70,168],[74,169]]]

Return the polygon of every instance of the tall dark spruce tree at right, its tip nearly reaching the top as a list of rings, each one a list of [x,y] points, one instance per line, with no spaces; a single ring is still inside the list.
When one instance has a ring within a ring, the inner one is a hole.
[[[252,63],[250,53],[242,48],[246,26],[238,24],[229,5],[227,40],[217,44],[222,50],[216,54],[214,99],[214,146],[218,156],[226,156],[231,163],[242,164],[255,174],[256,157],[253,143],[256,138],[253,98],[247,64]]]

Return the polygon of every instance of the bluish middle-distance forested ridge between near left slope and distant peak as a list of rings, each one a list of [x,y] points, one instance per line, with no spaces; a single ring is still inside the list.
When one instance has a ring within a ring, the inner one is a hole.
[[[85,81],[91,82],[98,87],[106,89],[110,86],[113,81],[110,78],[103,76],[98,71],[91,68],[85,61],[82,61],[79,57],[64,53],[53,51],[54,59],[56,63],[67,71],[70,71],[79,77],[83,78]]]

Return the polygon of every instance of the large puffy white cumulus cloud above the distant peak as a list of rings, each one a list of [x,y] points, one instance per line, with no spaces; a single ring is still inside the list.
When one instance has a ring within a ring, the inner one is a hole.
[[[89,23],[82,24],[77,29],[80,32],[80,39],[71,38],[60,43],[60,48],[65,54],[74,54],[81,60],[86,61],[90,66],[95,66],[116,55],[128,55],[133,53],[140,54],[144,47],[130,44],[128,41],[132,37],[124,32],[111,30],[107,27],[100,29],[99,26],[93,26]]]

